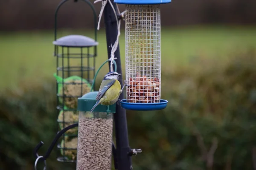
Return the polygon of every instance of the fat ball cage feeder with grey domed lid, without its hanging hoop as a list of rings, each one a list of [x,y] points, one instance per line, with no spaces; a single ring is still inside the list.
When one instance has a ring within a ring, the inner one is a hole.
[[[56,55],[57,63],[58,58],[61,58],[62,60],[61,66],[57,65],[57,74],[55,77],[58,84],[57,122],[60,129],[63,129],[64,127],[78,122],[76,100],[83,94],[90,92],[92,83],[92,79],[90,79],[90,71],[93,71],[94,76],[94,67],[90,67],[89,59],[93,57],[93,60],[95,60],[95,55],[90,54],[88,49],[98,45],[98,42],[82,35],[68,35],[55,40],[53,44],[61,48],[61,53],[57,53]],[[68,52],[70,48],[80,48],[81,53],[70,54]],[[84,50],[84,48],[86,49]],[[64,51],[67,51],[67,53],[65,54]],[[87,53],[84,53],[83,51],[87,51]],[[84,58],[87,58],[86,66],[83,65]],[[64,59],[67,60],[67,66],[64,65]],[[71,66],[71,63],[69,63],[71,59],[79,59],[80,65]],[[58,77],[58,72],[62,72],[61,77]],[[72,72],[78,74],[72,75]],[[86,76],[84,72],[87,72],[87,79],[83,78]],[[57,146],[58,149],[61,150],[62,155],[57,158],[58,161],[73,162],[76,160],[77,147],[75,143],[77,143],[77,134],[77,127],[68,130],[64,134],[61,144],[58,144]]]

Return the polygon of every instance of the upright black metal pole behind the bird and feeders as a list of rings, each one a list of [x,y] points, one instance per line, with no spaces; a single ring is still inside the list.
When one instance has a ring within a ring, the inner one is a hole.
[[[111,0],[112,5],[116,10],[116,4]],[[116,41],[116,36],[118,33],[117,23],[114,11],[109,4],[105,6],[104,9],[104,21],[108,48],[108,58],[111,57],[111,45]],[[119,45],[115,52],[115,57],[117,58],[117,72],[122,74],[121,59]],[[109,62],[110,65],[110,62]],[[123,85],[122,77],[119,78],[121,86]],[[121,94],[119,99],[123,99],[124,95]],[[114,124],[116,132],[116,152],[117,152],[117,165],[118,170],[132,170],[131,156],[128,155],[130,151],[129,140],[128,140],[128,129],[126,122],[126,112],[125,109],[121,108],[120,105],[116,105],[116,113],[114,113]]]

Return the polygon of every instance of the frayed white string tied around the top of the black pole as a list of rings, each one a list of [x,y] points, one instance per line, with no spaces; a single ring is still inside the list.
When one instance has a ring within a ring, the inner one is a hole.
[[[99,23],[100,23],[100,20],[101,20],[101,17],[102,17],[102,14],[103,14],[103,11],[104,11],[104,8],[105,6],[107,5],[107,3],[109,2],[109,4],[111,5],[111,8],[113,9],[114,11],[114,14],[115,14],[115,17],[116,17],[116,23],[117,23],[117,30],[118,30],[118,33],[117,33],[117,37],[116,37],[116,41],[114,43],[114,45],[111,44],[111,57],[109,59],[110,62],[110,71],[113,71],[113,64],[114,64],[114,59],[115,58],[115,52],[116,52],[116,49],[118,47],[118,43],[119,43],[119,36],[120,36],[120,20],[118,21],[118,18],[117,18],[117,15],[116,15],[116,11],[115,11],[115,8],[113,7],[113,4],[111,3],[111,0],[95,0],[94,3],[97,3],[97,2],[100,2],[102,1],[102,8],[101,8],[101,11],[99,13],[99,22],[98,22],[98,27],[97,29],[99,30]],[[117,6],[117,10],[119,11],[119,8]],[[122,12],[122,16],[123,16],[124,12]]]

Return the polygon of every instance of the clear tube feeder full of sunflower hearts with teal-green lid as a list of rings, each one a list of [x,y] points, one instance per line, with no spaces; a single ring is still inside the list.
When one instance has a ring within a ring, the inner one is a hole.
[[[109,107],[96,103],[98,92],[90,92],[78,99],[79,133],[76,170],[110,170],[112,161],[113,113]]]

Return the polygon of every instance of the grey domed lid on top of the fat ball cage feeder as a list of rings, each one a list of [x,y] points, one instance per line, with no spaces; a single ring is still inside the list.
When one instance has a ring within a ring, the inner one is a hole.
[[[53,41],[53,44],[64,47],[91,47],[99,43],[83,35],[67,35]]]

